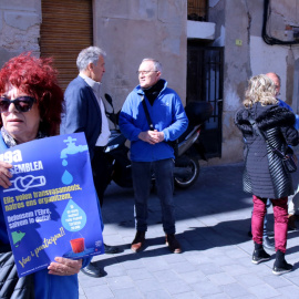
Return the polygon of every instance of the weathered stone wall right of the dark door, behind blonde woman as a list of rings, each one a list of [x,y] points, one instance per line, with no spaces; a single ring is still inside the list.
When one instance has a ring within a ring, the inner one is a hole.
[[[287,40],[286,25],[299,27],[297,0],[271,2],[269,33]],[[234,115],[241,106],[250,76],[277,72],[281,76],[280,99],[299,113],[299,44],[269,45],[261,37],[264,1],[212,0],[210,19],[216,23],[214,45],[225,47],[223,156],[209,164],[243,159],[240,132],[234,125]]]

